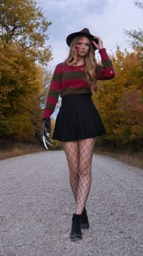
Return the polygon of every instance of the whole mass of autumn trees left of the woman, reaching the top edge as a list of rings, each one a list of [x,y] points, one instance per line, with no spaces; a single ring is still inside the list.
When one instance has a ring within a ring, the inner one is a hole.
[[[0,16],[0,137],[28,138],[41,119],[51,23],[33,0],[0,0]]]

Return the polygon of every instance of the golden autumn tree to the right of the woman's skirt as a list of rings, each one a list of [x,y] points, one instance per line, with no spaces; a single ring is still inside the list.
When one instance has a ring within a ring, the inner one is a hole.
[[[141,50],[111,56],[115,79],[100,82],[93,101],[101,113],[107,135],[104,141],[139,148],[143,138]]]

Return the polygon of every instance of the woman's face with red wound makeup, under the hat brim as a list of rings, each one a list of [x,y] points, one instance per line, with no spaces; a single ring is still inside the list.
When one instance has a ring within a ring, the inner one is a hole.
[[[78,56],[85,57],[90,50],[90,40],[87,37],[80,37],[76,43],[76,52]]]

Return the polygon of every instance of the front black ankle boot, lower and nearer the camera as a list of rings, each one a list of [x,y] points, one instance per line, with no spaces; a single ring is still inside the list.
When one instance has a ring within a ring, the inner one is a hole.
[[[72,224],[71,224],[71,233],[70,233],[71,241],[81,240],[81,215],[73,214]]]

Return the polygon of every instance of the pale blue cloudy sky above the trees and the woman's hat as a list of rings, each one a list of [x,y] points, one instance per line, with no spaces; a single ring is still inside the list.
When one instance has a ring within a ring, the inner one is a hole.
[[[143,26],[143,12],[134,0],[38,0],[44,15],[52,25],[48,29],[48,43],[52,46],[52,65],[63,62],[68,54],[66,38],[84,27],[98,35],[110,54],[116,46],[131,51],[125,30]],[[98,52],[96,51],[96,57]]]

